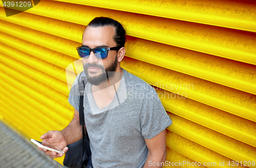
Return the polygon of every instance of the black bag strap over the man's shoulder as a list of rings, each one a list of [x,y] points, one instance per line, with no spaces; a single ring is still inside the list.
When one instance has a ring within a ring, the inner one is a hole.
[[[87,84],[87,79],[82,79],[82,73],[83,71],[78,75],[78,85],[79,85],[79,121],[80,125],[85,125],[84,122],[84,113],[83,113],[83,94],[84,94],[84,88]]]

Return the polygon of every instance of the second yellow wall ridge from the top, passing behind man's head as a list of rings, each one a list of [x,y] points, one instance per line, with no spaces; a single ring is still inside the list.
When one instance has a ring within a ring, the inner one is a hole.
[[[76,4],[69,4],[69,16],[67,16],[67,12],[63,10],[66,5],[67,3],[40,1],[40,6],[26,12],[36,15],[44,13],[42,16],[67,20],[79,25],[87,25],[95,16],[120,16],[117,19],[121,18],[123,21],[127,35],[256,64],[256,46],[253,45],[256,35],[254,33]],[[4,15],[3,8],[2,15]],[[84,19],[76,21],[77,16]]]

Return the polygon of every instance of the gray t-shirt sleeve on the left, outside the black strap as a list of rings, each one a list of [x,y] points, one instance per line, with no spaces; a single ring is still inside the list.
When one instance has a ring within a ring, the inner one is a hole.
[[[76,78],[70,89],[68,101],[77,111],[79,111],[79,98],[79,85]]]

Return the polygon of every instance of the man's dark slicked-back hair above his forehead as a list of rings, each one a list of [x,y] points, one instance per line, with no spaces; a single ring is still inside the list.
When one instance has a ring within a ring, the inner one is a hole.
[[[104,27],[104,26],[112,26],[115,28],[115,35],[114,41],[116,45],[119,47],[123,47],[125,43],[125,30],[121,23],[118,21],[109,18],[109,17],[95,17],[90,23],[88,24],[90,27]]]

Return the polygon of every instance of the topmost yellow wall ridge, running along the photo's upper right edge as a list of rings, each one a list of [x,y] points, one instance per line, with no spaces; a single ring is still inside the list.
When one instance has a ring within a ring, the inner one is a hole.
[[[173,18],[207,25],[256,32],[256,6],[249,1],[54,1]],[[227,10],[229,11],[228,13],[226,12]]]

